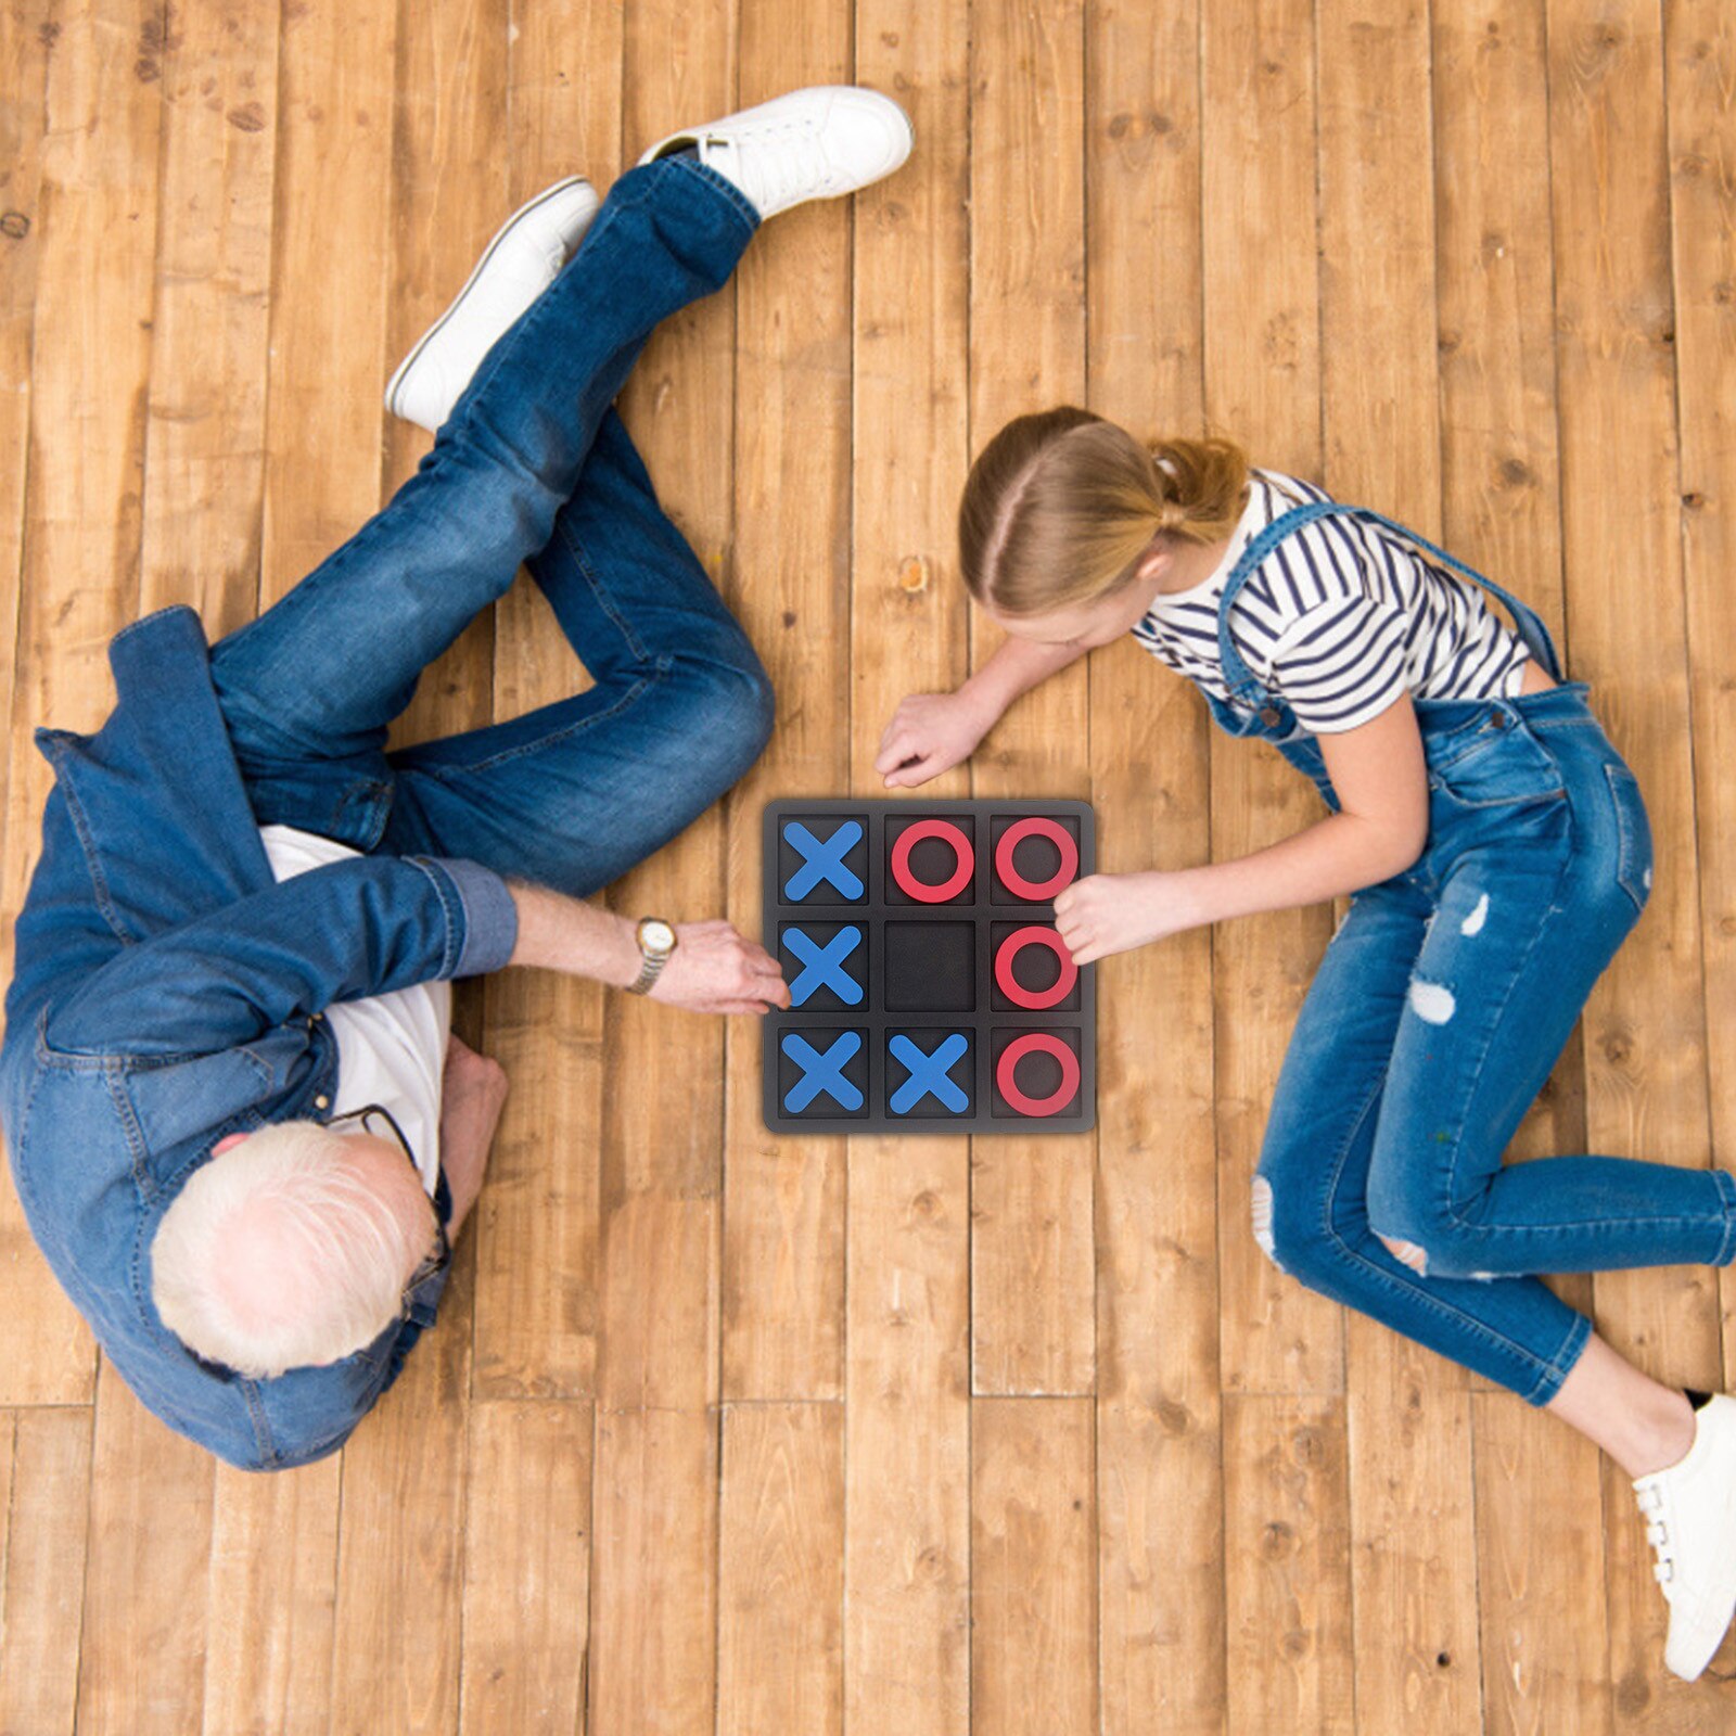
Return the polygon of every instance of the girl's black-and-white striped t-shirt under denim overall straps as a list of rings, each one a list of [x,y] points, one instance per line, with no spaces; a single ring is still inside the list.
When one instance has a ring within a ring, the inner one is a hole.
[[[1252,472],[1248,507],[1222,562],[1198,585],[1160,594],[1134,637],[1227,700],[1217,648],[1224,585],[1252,536],[1292,507],[1328,498],[1276,470]],[[1406,691],[1418,700],[1509,696],[1529,661],[1481,585],[1385,526],[1351,517],[1316,519],[1286,536],[1236,592],[1229,635],[1309,734],[1366,724]]]

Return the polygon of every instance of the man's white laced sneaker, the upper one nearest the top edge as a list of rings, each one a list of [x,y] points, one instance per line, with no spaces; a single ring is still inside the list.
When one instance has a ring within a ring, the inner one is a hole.
[[[910,156],[911,144],[910,116],[891,97],[858,85],[812,85],[708,127],[672,132],[639,161],[691,146],[760,217],[776,217],[807,200],[871,186]]]

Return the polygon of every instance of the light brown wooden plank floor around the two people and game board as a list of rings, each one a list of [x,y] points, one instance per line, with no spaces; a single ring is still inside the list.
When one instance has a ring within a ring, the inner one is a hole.
[[[1210,424],[1516,585],[1641,774],[1656,894],[1521,1153],[1736,1163],[1729,0],[0,0],[5,911],[30,729],[101,719],[125,621],[247,620],[408,474],[380,385],[516,201],[852,78],[910,167],[774,222],[627,392],[781,719],[618,908],[753,929],[762,804],[871,792],[896,700],[991,649],[951,523],[1007,415]],[[408,722],[575,679],[516,594]],[[1090,797],[1109,868],[1316,812],[1132,646],[937,788]],[[1113,960],[1069,1139],[773,1139],[748,1024],[465,991],[516,1088],[439,1328],[288,1476],[139,1408],[7,1191],[0,1729],[1736,1727],[1663,1670],[1618,1472],[1257,1253],[1332,920]],[[1568,1290],[1736,1380],[1736,1281]]]

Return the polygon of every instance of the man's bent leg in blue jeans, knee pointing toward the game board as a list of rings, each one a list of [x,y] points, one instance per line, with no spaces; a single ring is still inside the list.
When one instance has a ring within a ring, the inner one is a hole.
[[[613,411],[531,576],[595,686],[392,753],[380,847],[583,896],[746,771],[771,729],[771,684]]]

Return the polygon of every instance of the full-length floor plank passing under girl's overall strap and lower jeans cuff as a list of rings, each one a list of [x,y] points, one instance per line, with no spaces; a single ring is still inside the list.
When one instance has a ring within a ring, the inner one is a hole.
[[[1434,7],[1443,526],[1568,656],[1549,182],[1512,174],[1547,161],[1545,52],[1536,7]],[[1585,1149],[1583,1052],[1569,1042],[1509,1158]],[[1588,1278],[1552,1283],[1588,1307]],[[1472,1387],[1484,1724],[1608,1729],[1597,1455],[1491,1382]],[[1571,1549],[1545,1517],[1557,1510],[1575,1516]]]

